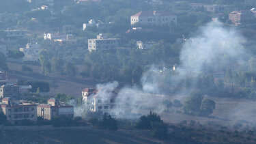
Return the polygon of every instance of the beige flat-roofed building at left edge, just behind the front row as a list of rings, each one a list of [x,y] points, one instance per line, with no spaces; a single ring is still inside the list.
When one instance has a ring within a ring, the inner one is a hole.
[[[0,98],[17,98],[19,94],[20,92],[18,85],[2,85],[0,87]]]

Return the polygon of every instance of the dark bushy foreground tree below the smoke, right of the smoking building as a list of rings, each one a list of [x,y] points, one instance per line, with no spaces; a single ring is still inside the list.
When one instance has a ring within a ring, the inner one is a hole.
[[[150,111],[150,114],[142,115],[139,118],[139,121],[136,124],[136,128],[142,130],[152,130],[152,123],[154,122],[162,122],[162,120],[160,115],[156,115],[156,113],[152,113],[152,111]]]

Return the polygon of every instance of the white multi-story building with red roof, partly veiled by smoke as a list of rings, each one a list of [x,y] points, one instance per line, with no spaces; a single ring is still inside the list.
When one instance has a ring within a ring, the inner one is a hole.
[[[89,104],[91,112],[101,111],[102,113],[109,113],[111,115],[124,114],[124,105],[118,102],[117,93],[108,89],[83,89],[83,100]]]

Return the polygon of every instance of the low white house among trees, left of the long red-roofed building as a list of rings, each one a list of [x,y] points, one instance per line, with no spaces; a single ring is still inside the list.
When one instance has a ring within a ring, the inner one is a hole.
[[[96,27],[97,29],[108,29],[109,27],[111,27],[111,25],[113,25],[114,23],[103,23],[102,21],[98,20],[94,20],[91,19],[89,20],[88,23],[83,23],[83,31],[85,31],[88,27]]]

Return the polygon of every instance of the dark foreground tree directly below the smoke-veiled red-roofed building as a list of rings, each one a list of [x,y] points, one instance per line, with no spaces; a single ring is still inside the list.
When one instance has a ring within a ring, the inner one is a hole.
[[[104,130],[117,130],[117,120],[111,115],[104,113],[102,119],[98,121],[98,126]]]

